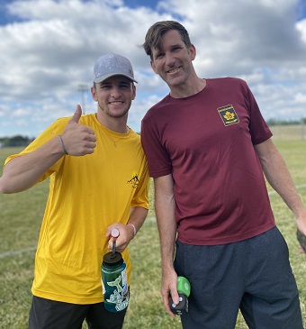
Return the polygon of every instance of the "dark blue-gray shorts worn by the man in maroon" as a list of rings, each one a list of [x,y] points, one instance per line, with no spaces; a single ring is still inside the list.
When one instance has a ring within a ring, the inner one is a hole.
[[[283,235],[275,227],[242,242],[176,242],[175,270],[191,283],[184,329],[303,329],[299,293]]]

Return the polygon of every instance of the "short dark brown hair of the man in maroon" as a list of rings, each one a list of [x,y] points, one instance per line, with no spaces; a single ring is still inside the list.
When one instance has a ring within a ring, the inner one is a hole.
[[[161,37],[170,30],[176,30],[181,34],[186,47],[191,46],[191,41],[187,30],[181,23],[175,21],[161,21],[154,23],[146,34],[145,42],[142,45],[147,55],[153,60],[152,49],[161,48]]]

